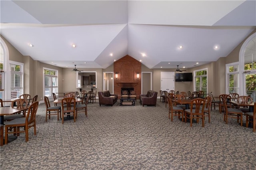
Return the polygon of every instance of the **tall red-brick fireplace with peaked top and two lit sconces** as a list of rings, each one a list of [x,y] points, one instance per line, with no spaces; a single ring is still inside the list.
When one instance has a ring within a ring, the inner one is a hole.
[[[115,73],[118,75],[117,79]],[[114,94],[118,98],[121,96],[121,88],[133,88],[137,97],[141,93],[141,63],[129,55],[114,62]]]

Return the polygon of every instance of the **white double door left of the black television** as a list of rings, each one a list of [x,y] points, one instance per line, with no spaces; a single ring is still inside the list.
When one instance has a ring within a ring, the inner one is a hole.
[[[174,85],[174,72],[161,72],[161,90],[169,92],[175,89]]]

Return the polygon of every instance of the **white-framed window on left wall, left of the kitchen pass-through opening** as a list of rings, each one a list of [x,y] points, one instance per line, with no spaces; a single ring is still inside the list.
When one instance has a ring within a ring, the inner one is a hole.
[[[44,68],[44,95],[51,97],[58,93],[58,71]]]

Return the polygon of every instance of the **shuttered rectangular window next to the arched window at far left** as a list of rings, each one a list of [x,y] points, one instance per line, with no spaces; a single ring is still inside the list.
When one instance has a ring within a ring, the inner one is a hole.
[[[23,64],[10,63],[11,99],[18,99],[23,94]]]

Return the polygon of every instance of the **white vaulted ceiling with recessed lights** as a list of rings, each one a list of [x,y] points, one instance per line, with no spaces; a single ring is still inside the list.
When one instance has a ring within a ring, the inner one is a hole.
[[[1,0],[0,15],[1,35],[43,63],[106,68],[128,54],[150,69],[191,68],[256,28],[256,1]]]

